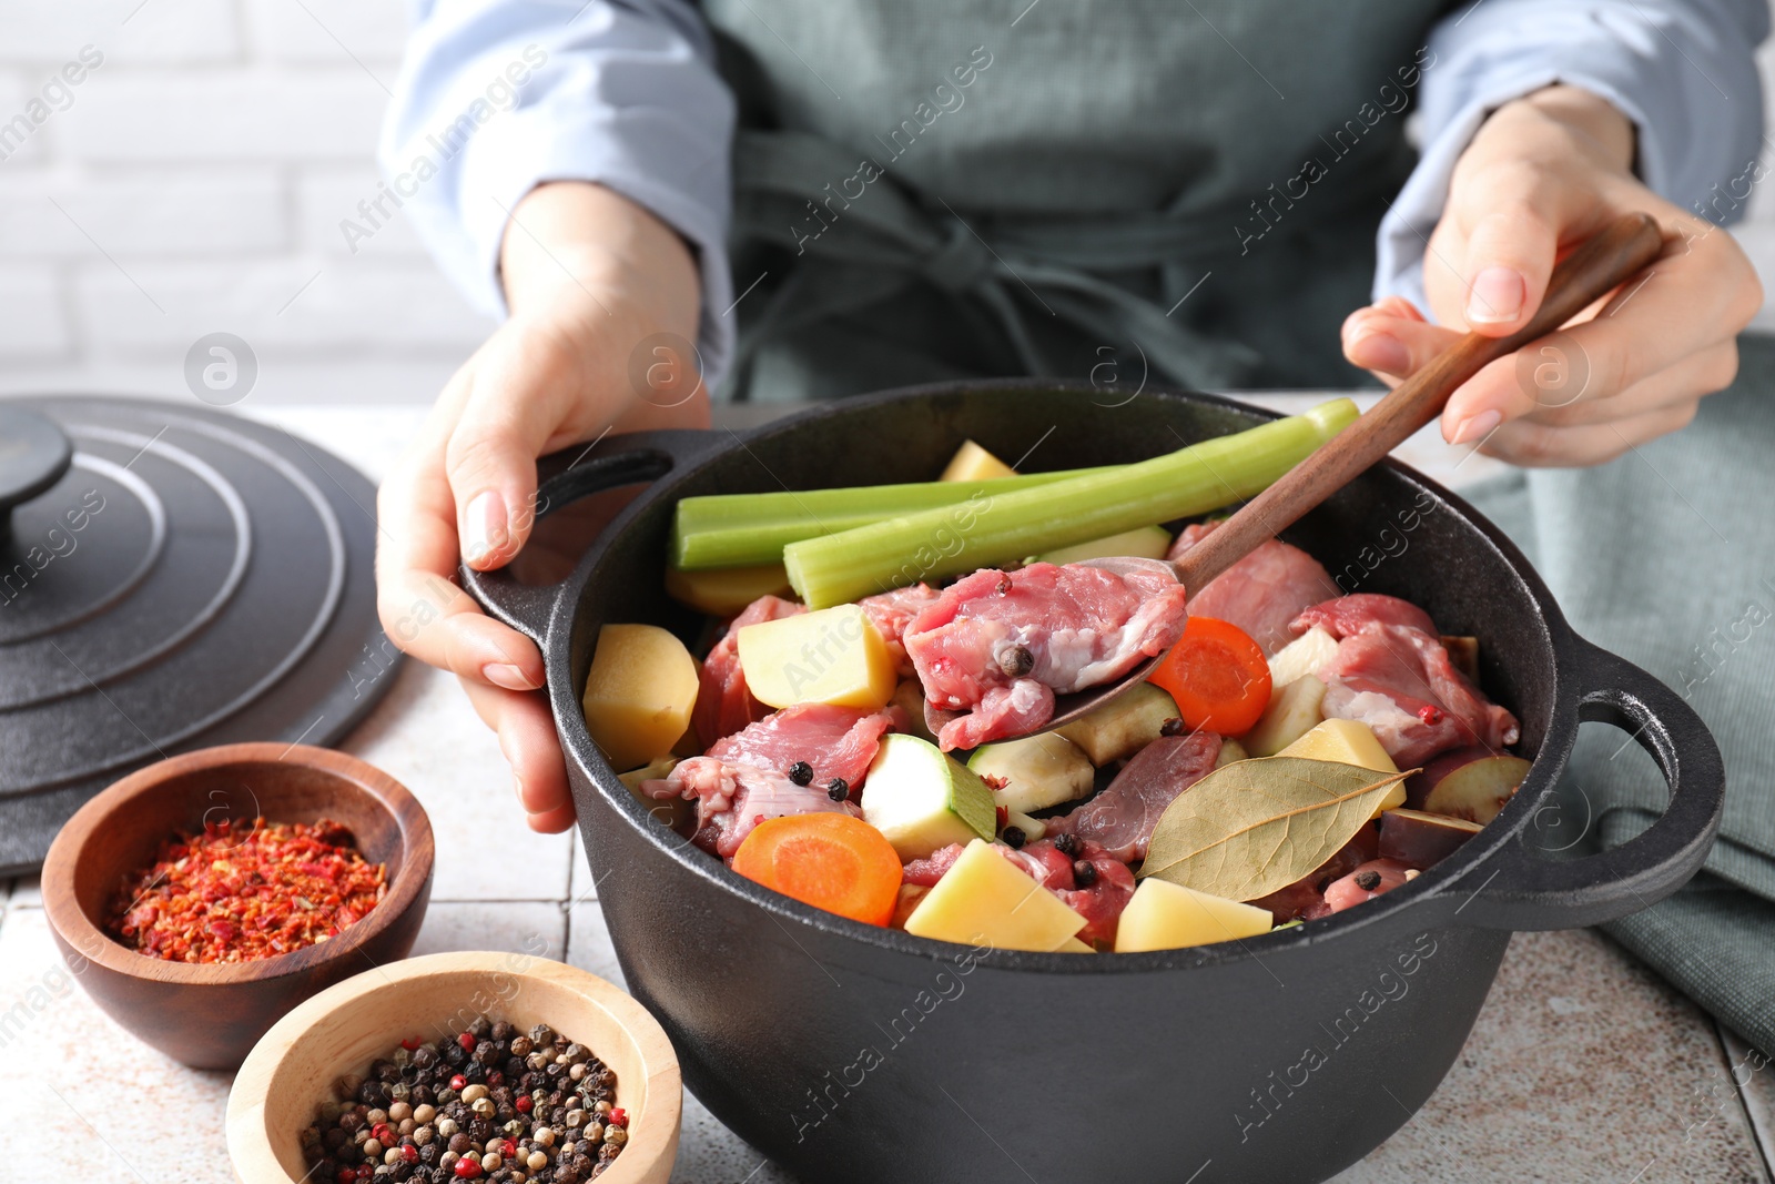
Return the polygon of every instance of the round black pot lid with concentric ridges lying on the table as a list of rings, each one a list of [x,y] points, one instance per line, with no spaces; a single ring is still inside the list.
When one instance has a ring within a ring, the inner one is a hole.
[[[375,499],[337,456],[234,415],[0,401],[0,875],[149,762],[330,744],[364,717],[398,664]]]

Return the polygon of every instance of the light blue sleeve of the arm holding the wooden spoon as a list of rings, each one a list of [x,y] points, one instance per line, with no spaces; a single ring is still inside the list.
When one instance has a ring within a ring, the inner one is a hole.
[[[1424,252],[1448,178],[1500,105],[1555,82],[1613,103],[1638,128],[1638,174],[1722,225],[1743,217],[1763,149],[1752,50],[1766,0],[1477,0],[1431,36],[1418,115],[1424,156],[1381,222],[1374,296],[1429,314]]]

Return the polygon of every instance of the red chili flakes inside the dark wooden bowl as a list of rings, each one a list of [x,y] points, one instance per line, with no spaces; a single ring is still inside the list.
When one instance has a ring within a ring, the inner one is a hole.
[[[128,877],[106,930],[169,962],[247,962],[337,937],[387,893],[387,872],[332,818],[229,818],[162,843]]]

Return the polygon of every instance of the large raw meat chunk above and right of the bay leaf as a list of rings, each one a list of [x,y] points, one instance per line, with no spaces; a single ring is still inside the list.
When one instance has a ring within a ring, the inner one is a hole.
[[[1354,719],[1374,730],[1400,769],[1454,747],[1502,751],[1516,744],[1516,717],[1454,667],[1429,616],[1395,596],[1361,593],[1315,605],[1294,620],[1296,632],[1322,625],[1338,639],[1319,669],[1328,719]]]

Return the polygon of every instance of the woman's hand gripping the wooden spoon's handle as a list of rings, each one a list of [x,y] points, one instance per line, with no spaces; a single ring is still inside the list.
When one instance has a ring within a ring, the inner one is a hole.
[[[1731,234],[1631,172],[1633,124],[1576,87],[1500,107],[1463,153],[1424,284],[1440,325],[1390,296],[1344,323],[1344,355],[1388,385],[1464,330],[1503,337],[1535,314],[1560,249],[1645,211],[1665,250],[1640,280],[1479,371],[1448,399],[1443,438],[1518,465],[1596,465],[1686,426],[1738,373],[1763,286]]]

